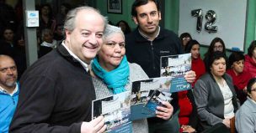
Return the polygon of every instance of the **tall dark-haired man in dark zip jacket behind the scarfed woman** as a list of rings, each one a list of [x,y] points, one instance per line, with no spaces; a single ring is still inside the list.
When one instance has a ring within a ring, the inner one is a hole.
[[[160,77],[160,57],[182,54],[178,36],[159,27],[161,12],[156,0],[136,0],[131,15],[138,25],[135,31],[125,36],[126,56],[129,62],[140,64],[150,78]],[[190,71],[185,78],[191,83],[195,72]],[[173,93],[173,114],[179,109],[177,93]],[[148,119],[150,132],[179,132],[178,116],[171,120]]]

